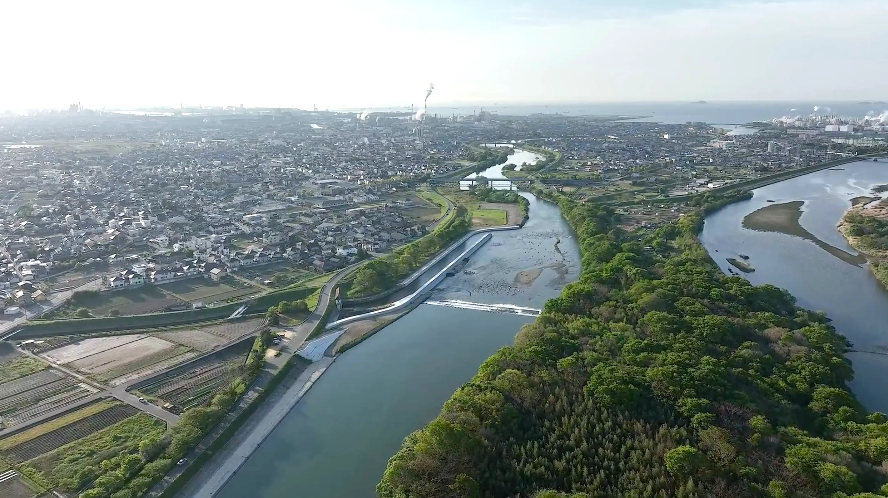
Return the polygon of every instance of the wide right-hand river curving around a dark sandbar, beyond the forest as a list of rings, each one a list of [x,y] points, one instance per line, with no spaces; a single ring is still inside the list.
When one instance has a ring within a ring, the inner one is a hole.
[[[888,352],[888,292],[836,230],[851,199],[874,195],[872,187],[882,184],[888,184],[884,160],[844,164],[765,186],[749,201],[707,217],[701,241],[725,272],[730,268],[725,258],[749,256],[756,269],[743,274],[749,281],[787,289],[800,306],[827,312],[836,330],[861,351],[848,354],[852,390],[868,409],[888,413],[883,384],[888,356],[878,354]],[[787,215],[797,216],[793,211],[799,201],[804,202],[802,214],[794,223],[794,216]]]

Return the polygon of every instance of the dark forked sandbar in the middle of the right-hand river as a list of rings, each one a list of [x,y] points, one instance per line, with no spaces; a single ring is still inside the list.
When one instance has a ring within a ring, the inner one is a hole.
[[[867,262],[866,257],[853,255],[833,247],[818,239],[813,233],[805,230],[805,227],[799,223],[799,220],[802,218],[802,207],[804,205],[805,201],[791,201],[771,204],[770,206],[757,209],[743,217],[743,228],[757,232],[783,233],[805,239],[805,241],[812,241],[817,247],[827,251],[830,255],[844,261],[848,265],[861,266]]]

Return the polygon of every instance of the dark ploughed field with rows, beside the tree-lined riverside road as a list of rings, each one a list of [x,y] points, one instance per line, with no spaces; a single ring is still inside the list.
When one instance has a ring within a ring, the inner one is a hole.
[[[139,386],[138,392],[183,410],[204,405],[241,374],[251,345],[250,341],[244,341],[224,353],[198,361],[193,368]]]

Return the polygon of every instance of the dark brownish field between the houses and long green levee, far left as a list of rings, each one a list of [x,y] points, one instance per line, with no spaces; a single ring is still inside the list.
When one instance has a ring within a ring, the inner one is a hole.
[[[59,311],[52,314],[52,318],[71,318],[80,308],[90,310],[93,316],[107,316],[111,310],[123,315],[135,315],[156,312],[177,304],[182,304],[182,301],[163,294],[153,285],[145,285],[139,289],[84,293],[61,306]]]

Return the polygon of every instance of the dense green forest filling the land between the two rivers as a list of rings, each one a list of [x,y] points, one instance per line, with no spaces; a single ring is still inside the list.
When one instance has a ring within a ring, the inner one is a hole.
[[[848,391],[846,339],[697,241],[728,199],[626,233],[556,195],[579,281],[405,439],[381,498],[888,495],[888,417]]]

